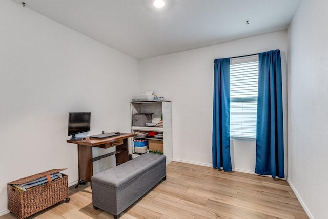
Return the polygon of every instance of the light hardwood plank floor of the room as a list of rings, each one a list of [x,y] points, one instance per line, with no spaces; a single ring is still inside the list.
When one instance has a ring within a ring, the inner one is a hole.
[[[133,188],[131,188],[133,189]],[[89,185],[69,189],[60,202],[30,218],[113,218],[94,210]],[[0,219],[17,218],[6,214]],[[218,171],[185,163],[167,165],[167,177],[121,214],[130,218],[309,218],[284,180],[240,172]]]

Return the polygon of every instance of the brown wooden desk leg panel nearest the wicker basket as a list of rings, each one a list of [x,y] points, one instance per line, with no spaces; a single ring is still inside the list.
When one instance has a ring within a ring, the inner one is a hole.
[[[78,184],[81,180],[91,182],[93,175],[92,164],[92,147],[85,145],[77,145],[78,152]],[[78,187],[78,184],[75,188]]]

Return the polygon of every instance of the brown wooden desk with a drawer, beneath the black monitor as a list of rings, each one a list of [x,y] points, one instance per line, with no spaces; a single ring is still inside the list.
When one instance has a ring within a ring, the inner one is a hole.
[[[115,154],[116,165],[129,161],[128,138],[136,134],[121,133],[115,137],[96,139],[86,137],[85,140],[67,140],[66,142],[77,144],[78,152],[78,187],[81,180],[91,182],[93,176],[93,162]],[[92,147],[110,148],[115,147],[116,151],[98,157],[92,157]]]

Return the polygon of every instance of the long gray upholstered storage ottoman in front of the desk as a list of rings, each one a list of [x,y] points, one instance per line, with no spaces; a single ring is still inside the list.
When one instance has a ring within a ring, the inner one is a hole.
[[[166,156],[146,153],[92,176],[92,204],[119,214],[166,178]]]

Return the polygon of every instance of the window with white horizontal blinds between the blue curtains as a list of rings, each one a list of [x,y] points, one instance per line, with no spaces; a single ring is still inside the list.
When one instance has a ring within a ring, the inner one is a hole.
[[[256,138],[258,55],[230,59],[230,137]]]

